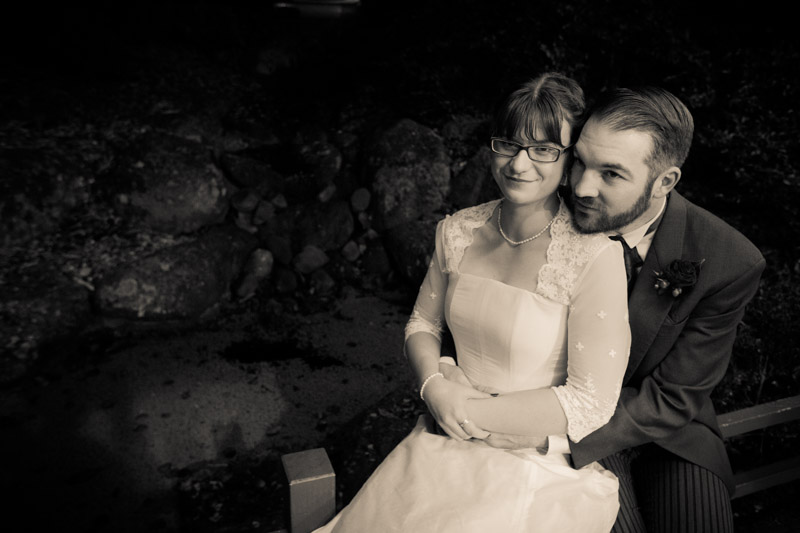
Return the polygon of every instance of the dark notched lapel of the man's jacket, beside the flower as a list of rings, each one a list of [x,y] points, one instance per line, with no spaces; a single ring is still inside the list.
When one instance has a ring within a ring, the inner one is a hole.
[[[685,229],[686,200],[673,191],[670,193],[664,218],[656,230],[653,244],[628,298],[632,341],[624,383],[630,380],[639,367],[672,307],[672,298],[667,294],[659,295],[655,290],[654,271],[663,270],[673,260],[680,259]]]

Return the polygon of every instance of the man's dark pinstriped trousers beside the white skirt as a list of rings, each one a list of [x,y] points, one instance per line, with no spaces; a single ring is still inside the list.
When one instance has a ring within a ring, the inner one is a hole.
[[[732,533],[733,511],[720,478],[655,445],[600,461],[619,479],[612,533]]]

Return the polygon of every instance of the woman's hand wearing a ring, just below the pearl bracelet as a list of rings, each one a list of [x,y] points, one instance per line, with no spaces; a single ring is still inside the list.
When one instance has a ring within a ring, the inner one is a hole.
[[[489,393],[442,377],[434,378],[425,387],[428,410],[439,426],[454,439],[483,439],[489,435],[467,419],[467,400],[490,397]]]

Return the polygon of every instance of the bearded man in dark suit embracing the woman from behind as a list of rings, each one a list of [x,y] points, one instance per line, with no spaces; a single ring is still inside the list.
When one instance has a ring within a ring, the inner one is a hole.
[[[577,443],[552,437],[550,452],[571,453],[576,468],[600,461],[617,475],[617,532],[733,531],[733,475],[710,395],[765,262],[739,232],[673,190],[693,130],[669,92],[619,89],[593,108],[573,150],[576,226],[608,232],[625,249],[632,344],[608,424]],[[463,376],[440,367],[448,379]],[[553,449],[559,442],[568,448]],[[531,441],[508,436],[494,445]]]

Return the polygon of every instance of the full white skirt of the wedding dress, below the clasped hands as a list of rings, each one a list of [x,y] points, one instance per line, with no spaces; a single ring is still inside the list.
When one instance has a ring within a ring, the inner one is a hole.
[[[563,455],[456,440],[420,416],[317,532],[608,532],[617,490],[616,477],[597,463],[576,470]]]

